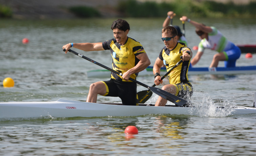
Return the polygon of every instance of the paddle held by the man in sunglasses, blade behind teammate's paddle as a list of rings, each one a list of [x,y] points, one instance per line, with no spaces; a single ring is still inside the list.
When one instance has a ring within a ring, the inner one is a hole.
[[[182,56],[181,56],[181,59],[182,59]],[[182,62],[182,60],[180,60],[176,65],[174,65],[166,74],[164,74],[159,79],[159,81],[162,81],[174,68],[176,68],[178,65],[180,65],[181,62]],[[155,87],[155,86],[156,86],[156,84],[154,84],[152,87]],[[150,89],[148,89],[148,90],[140,91],[137,94],[138,94],[138,98],[139,98],[139,103],[145,103],[152,96],[153,93]],[[176,96],[176,97],[178,97],[178,96]]]

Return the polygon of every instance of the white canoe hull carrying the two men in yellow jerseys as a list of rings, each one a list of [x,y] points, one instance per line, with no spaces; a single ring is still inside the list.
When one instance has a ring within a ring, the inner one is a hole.
[[[216,107],[213,111],[225,111],[225,109]],[[231,109],[231,111],[227,111],[227,115],[256,114],[255,107],[235,106]],[[147,114],[198,116],[198,113],[196,107],[126,106],[65,99],[50,102],[0,102],[0,118],[105,117]]]

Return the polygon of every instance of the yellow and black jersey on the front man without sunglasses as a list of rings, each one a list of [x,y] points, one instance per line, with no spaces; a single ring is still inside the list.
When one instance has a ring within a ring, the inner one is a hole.
[[[140,61],[136,58],[137,55],[146,53],[140,42],[128,37],[124,45],[116,42],[116,39],[110,39],[108,41],[102,42],[104,50],[110,50],[113,62],[112,69],[124,73],[127,70],[135,67]],[[131,78],[136,79],[136,74],[132,74]],[[122,76],[111,72],[111,79],[116,79],[118,81],[125,81]],[[126,82],[126,81],[125,81]],[[129,80],[129,82],[131,82]]]

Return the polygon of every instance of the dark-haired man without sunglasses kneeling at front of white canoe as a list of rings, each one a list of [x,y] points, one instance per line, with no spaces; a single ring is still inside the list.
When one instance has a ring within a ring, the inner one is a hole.
[[[129,80],[136,79],[138,72],[150,65],[150,60],[140,42],[127,36],[130,25],[122,19],[113,22],[114,39],[98,43],[68,43],[62,48],[65,53],[73,47],[83,51],[110,50],[112,69],[122,76],[111,73],[109,81],[99,81],[90,85],[87,102],[97,102],[97,95],[120,97],[123,105],[138,105],[137,84]]]

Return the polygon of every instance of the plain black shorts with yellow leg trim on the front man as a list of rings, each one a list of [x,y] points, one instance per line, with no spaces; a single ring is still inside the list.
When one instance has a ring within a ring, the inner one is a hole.
[[[123,105],[138,105],[137,84],[134,82],[120,82],[115,79],[101,81],[106,86],[103,96],[120,97]]]

